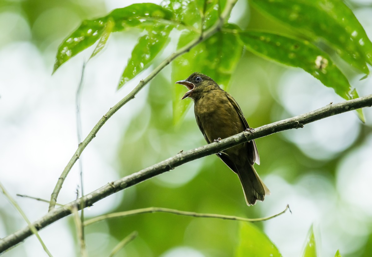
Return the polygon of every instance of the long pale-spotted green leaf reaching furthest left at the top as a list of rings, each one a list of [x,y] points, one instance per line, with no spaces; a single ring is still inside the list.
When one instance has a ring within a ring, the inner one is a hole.
[[[93,45],[101,38],[110,22],[114,23],[112,31],[116,32],[130,27],[144,28],[154,23],[169,24],[173,20],[174,16],[171,11],[152,3],[132,4],[124,8],[115,9],[107,16],[84,20],[59,46],[53,72],[71,57]],[[106,36],[108,37],[109,33]],[[103,41],[106,40],[107,38],[103,39]]]

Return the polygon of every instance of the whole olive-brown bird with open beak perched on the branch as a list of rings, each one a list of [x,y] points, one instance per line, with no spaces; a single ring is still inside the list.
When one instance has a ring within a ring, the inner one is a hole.
[[[189,97],[194,100],[196,123],[208,143],[249,129],[237,102],[213,79],[194,72],[186,80],[177,81],[176,84],[189,89],[182,99]],[[257,200],[263,201],[265,195],[270,194],[253,167],[254,163],[260,164],[254,140],[224,150],[217,156],[238,175],[247,205],[256,204]]]

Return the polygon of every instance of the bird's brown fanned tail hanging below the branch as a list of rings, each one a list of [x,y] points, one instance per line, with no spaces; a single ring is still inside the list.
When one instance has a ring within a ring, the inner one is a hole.
[[[265,195],[270,195],[270,190],[262,182],[253,165],[248,164],[238,169],[237,174],[243,187],[247,205],[254,205],[257,200],[263,201]]]

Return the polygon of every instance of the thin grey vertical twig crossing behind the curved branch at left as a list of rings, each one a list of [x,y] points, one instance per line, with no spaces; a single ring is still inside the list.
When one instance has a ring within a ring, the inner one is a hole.
[[[75,98],[75,103],[76,103],[76,133],[77,133],[77,142],[80,144],[81,142],[81,134],[82,129],[81,129],[81,117],[80,117],[80,103],[81,103],[81,90],[83,89],[83,81],[84,81],[84,72],[85,72],[85,66],[86,62],[83,62],[83,68],[81,68],[81,77],[80,77],[80,82],[76,90],[76,98]],[[81,188],[81,196],[84,196],[84,179],[83,179],[83,159],[79,158],[79,170],[80,170],[80,188]],[[84,202],[81,202],[81,204],[84,204]],[[80,206],[81,209],[81,222],[80,224],[83,224],[84,222],[84,205]],[[84,227],[81,227],[81,234],[82,237],[84,238]]]

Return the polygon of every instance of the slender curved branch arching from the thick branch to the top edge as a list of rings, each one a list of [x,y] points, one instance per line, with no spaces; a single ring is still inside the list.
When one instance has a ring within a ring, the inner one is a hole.
[[[224,12],[222,12],[222,14],[220,16],[220,19],[218,19],[218,21],[216,22],[216,24],[214,26],[212,26],[208,30],[202,32],[200,37],[198,37],[197,39],[191,41],[190,43],[188,43],[183,48],[180,48],[179,50],[177,50],[176,52],[174,52],[170,56],[168,56],[168,58],[166,58],[163,62],[161,62],[159,64],[159,66],[157,66],[154,69],[154,71],[151,72],[150,75],[148,75],[145,79],[142,79],[140,81],[140,83],[128,95],[126,95],[126,97],[124,97],[122,100],[120,100],[119,103],[115,104],[112,108],[110,108],[110,110],[105,115],[103,115],[103,117],[98,121],[96,126],[94,126],[93,129],[90,131],[88,136],[79,144],[76,152],[71,157],[70,161],[67,163],[67,166],[63,170],[60,178],[58,178],[58,182],[55,185],[55,188],[54,188],[54,190],[52,192],[52,195],[51,195],[50,204],[49,204],[49,211],[51,211],[55,207],[55,204],[57,202],[58,193],[60,193],[60,191],[61,191],[62,184],[63,184],[64,180],[66,179],[67,174],[70,172],[71,168],[73,167],[73,165],[75,164],[77,159],[79,159],[79,157],[80,157],[81,153],[83,152],[83,150],[85,149],[85,147],[90,143],[90,141],[92,141],[92,139],[94,137],[96,137],[97,132],[100,130],[100,128],[103,126],[103,124],[105,124],[106,121],[111,116],[113,116],[113,114],[116,113],[116,111],[118,111],[124,104],[126,104],[128,101],[132,100],[135,97],[135,95],[138,92],[140,92],[140,90],[151,79],[153,79],[164,67],[166,67],[168,64],[170,64],[171,61],[173,61],[174,59],[176,59],[178,56],[182,55],[183,53],[186,53],[186,52],[190,51],[190,49],[192,49],[194,46],[198,45],[199,43],[203,42],[204,40],[208,39],[209,37],[214,35],[216,32],[218,32],[218,30],[220,30],[222,28],[222,26],[224,25],[225,20],[230,15],[232,7],[234,7],[236,2],[237,2],[237,0],[227,1]]]

